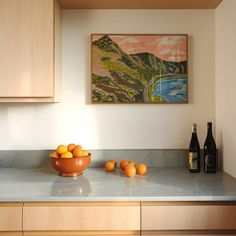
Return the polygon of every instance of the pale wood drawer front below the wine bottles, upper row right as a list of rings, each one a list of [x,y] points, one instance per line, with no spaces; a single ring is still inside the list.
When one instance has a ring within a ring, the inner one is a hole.
[[[234,230],[235,205],[143,205],[143,230]]]

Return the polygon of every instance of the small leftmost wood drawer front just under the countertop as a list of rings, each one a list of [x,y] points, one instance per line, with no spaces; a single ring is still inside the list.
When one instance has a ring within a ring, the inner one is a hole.
[[[22,230],[22,206],[0,204],[0,231]]]

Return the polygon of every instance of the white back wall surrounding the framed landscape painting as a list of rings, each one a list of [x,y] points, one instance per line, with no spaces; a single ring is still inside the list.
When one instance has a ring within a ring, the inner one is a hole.
[[[185,105],[90,105],[91,33],[189,34]],[[0,104],[0,149],[188,148],[191,124],[215,123],[213,10],[66,10],[63,12],[63,102]]]

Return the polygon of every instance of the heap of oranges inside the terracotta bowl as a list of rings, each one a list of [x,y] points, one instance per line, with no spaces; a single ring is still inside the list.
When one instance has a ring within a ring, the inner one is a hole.
[[[89,156],[87,150],[83,150],[81,145],[71,143],[69,145],[61,144],[57,150],[49,155],[51,158],[73,158]]]

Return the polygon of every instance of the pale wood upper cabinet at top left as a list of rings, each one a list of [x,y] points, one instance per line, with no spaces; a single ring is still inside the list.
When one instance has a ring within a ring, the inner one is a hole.
[[[60,85],[60,7],[0,1],[0,102],[54,102]]]

